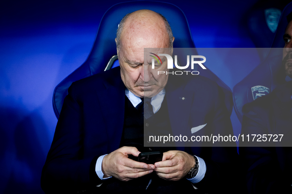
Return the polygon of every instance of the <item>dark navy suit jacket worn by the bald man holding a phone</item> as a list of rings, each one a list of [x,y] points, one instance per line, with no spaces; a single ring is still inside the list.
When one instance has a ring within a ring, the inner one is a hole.
[[[173,135],[191,135],[192,127],[206,123],[205,128],[193,135],[207,132],[233,134],[224,96],[215,83],[194,75],[192,79],[178,82],[171,76],[166,98]],[[82,190],[101,183],[93,166],[99,156],[119,148],[124,111],[125,85],[121,80],[120,67],[74,82],[64,100],[42,170],[42,189],[47,193],[56,192],[57,186],[65,190]],[[196,145],[202,146],[203,143]],[[184,146],[184,143],[177,146]],[[185,150],[184,147],[177,149]],[[186,151],[205,160],[205,178],[196,186],[207,190],[212,189],[209,185],[216,186],[224,175],[229,175],[237,157],[235,147],[202,146]]]

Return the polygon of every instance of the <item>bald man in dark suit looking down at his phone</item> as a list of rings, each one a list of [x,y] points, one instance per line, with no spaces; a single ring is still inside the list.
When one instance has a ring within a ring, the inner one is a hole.
[[[186,148],[178,147],[182,142],[168,148],[143,145],[143,129],[149,126],[173,136],[190,136],[191,129],[196,135],[233,133],[224,96],[214,82],[200,76],[177,82],[169,74],[157,74],[167,71],[166,61],[154,70],[145,64],[144,48],[172,48],[173,41],[162,15],[139,10],[123,18],[116,38],[120,67],[69,88],[42,170],[45,192],[227,192],[235,147],[204,147],[206,142]],[[162,161],[146,164],[128,158],[146,151],[164,152]]]

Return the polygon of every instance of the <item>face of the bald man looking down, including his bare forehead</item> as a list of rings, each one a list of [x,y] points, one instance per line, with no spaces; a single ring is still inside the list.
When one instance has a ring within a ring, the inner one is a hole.
[[[162,53],[163,48],[169,46],[169,36],[162,18],[151,12],[135,13],[127,18],[121,35],[121,47],[118,50],[121,77],[126,88],[134,95],[154,97],[167,84],[168,75],[157,73],[166,72],[167,63],[152,69],[151,64],[144,63],[144,48],[158,48],[156,52]]]

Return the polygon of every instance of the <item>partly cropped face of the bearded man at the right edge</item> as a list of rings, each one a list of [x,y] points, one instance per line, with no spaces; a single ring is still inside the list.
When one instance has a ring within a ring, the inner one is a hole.
[[[283,49],[283,65],[285,72],[292,78],[292,21],[288,24],[285,34],[283,36],[285,46]]]

